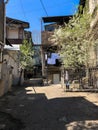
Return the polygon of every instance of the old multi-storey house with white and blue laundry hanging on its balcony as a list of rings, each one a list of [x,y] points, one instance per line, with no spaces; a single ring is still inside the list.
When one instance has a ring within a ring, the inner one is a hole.
[[[43,17],[44,30],[42,31],[42,74],[46,83],[59,84],[61,81],[61,62],[58,46],[49,38],[54,30],[68,22],[72,16]]]

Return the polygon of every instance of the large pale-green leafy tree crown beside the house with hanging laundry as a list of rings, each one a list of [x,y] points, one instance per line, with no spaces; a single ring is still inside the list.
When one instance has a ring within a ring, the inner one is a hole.
[[[89,49],[94,43],[90,35],[91,16],[88,11],[73,16],[68,24],[55,30],[52,40],[60,47],[65,68],[88,67]]]

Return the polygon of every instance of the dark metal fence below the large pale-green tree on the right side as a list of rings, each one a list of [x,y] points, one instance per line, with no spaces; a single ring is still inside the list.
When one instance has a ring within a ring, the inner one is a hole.
[[[87,74],[88,73],[88,74]],[[97,90],[98,89],[98,68],[91,67],[88,70],[68,70],[70,90]]]

